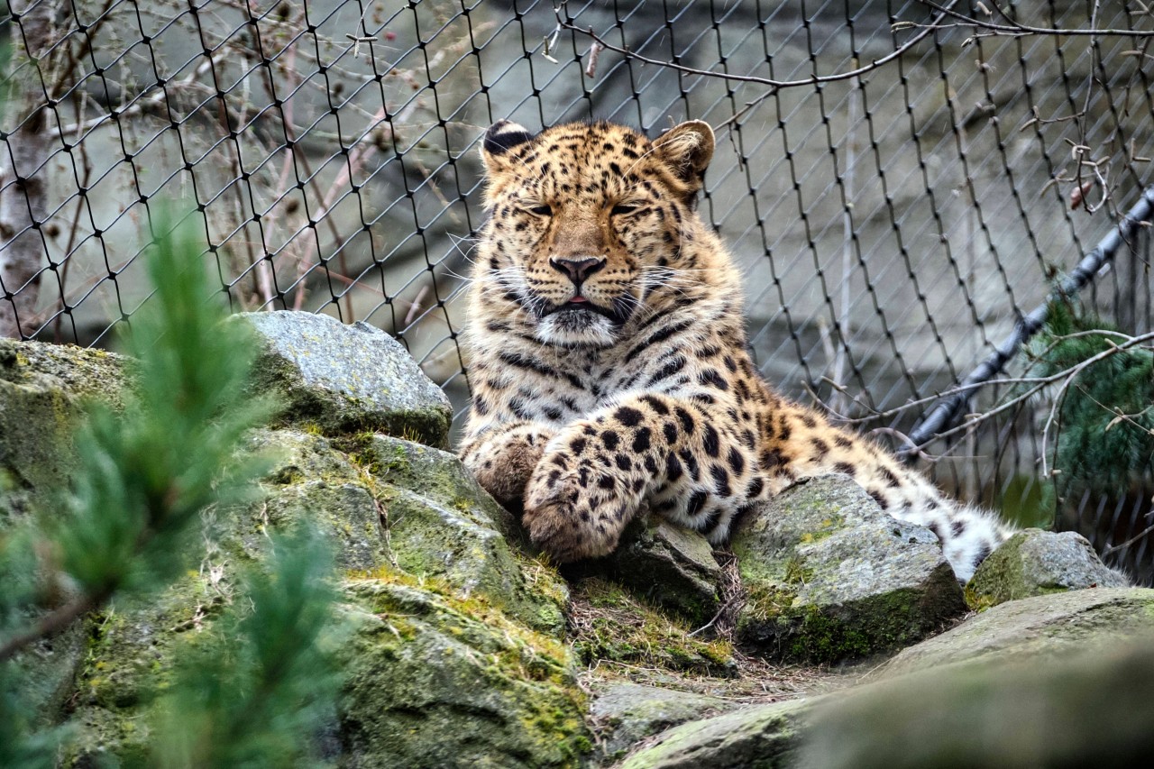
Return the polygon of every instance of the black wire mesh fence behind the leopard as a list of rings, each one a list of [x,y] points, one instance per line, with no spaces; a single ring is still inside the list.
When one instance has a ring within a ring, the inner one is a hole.
[[[107,343],[149,301],[140,254],[174,211],[232,308],[374,323],[458,410],[496,119],[711,122],[700,210],[744,271],[762,372],[896,447],[1114,230],[1154,157],[1139,2],[9,0],[0,23],[0,335]],[[1149,331],[1145,230],[1110,256],[1082,303]],[[1051,518],[1049,411],[1025,400],[924,466]],[[1059,525],[1149,580],[1151,495],[1059,500]]]

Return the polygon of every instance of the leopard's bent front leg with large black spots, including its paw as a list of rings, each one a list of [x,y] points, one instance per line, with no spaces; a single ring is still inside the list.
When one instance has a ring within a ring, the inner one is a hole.
[[[705,405],[632,396],[549,441],[525,490],[524,522],[559,561],[612,552],[645,499],[717,539],[760,485],[752,447]]]

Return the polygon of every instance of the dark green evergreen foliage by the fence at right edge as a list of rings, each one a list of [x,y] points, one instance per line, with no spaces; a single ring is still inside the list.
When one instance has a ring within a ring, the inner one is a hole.
[[[1057,431],[1052,464],[1059,495],[1117,493],[1154,469],[1154,352],[1119,349],[1126,338],[1101,319],[1056,301],[1031,344],[1032,376],[1051,376],[1107,353],[1055,394],[1058,425],[1050,432]]]

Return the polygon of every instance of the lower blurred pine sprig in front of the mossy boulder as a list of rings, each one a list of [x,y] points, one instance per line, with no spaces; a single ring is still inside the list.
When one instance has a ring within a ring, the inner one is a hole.
[[[302,767],[338,679],[331,639],[331,554],[308,529],[273,538],[268,572],[254,570],[232,611],[190,644],[158,711],[151,766]]]

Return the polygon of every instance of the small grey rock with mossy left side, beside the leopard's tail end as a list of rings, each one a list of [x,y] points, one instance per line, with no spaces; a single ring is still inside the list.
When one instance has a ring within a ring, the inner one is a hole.
[[[966,585],[971,609],[1082,588],[1125,588],[1130,583],[1107,567],[1076,531],[1019,531],[994,551]]]

